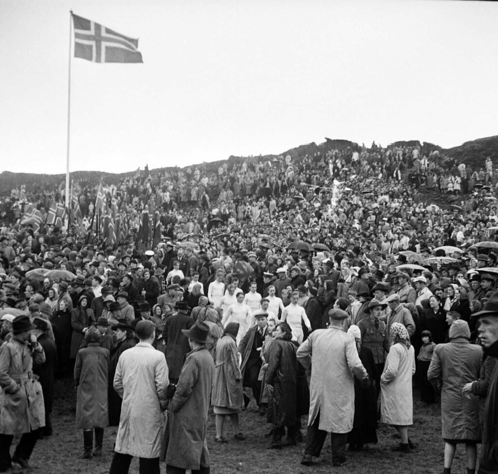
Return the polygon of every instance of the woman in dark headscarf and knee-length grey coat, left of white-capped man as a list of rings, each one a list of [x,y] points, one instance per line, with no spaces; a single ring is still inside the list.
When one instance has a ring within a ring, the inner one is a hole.
[[[239,331],[238,322],[230,322],[225,327],[221,339],[216,344],[215,375],[211,403],[216,415],[215,442],[227,443],[223,436],[223,425],[227,416],[232,420],[236,440],[245,439],[239,426],[239,412],[244,405],[242,372],[235,343]]]

